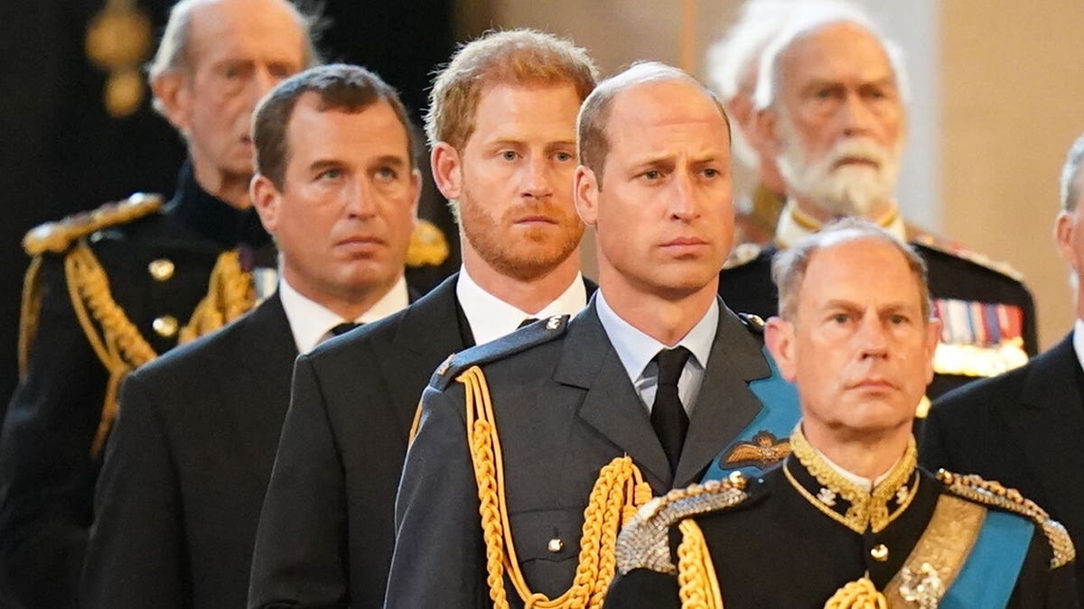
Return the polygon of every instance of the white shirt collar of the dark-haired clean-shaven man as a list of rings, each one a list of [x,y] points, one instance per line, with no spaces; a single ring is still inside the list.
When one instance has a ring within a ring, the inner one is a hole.
[[[297,345],[298,353],[305,354],[311,351],[326,338],[331,328],[343,323],[343,318],[337,313],[294,289],[285,277],[279,278],[279,298],[282,300],[283,310],[286,311],[286,320],[289,322],[291,332],[294,333],[294,342]],[[357,323],[375,322],[405,308],[409,301],[406,280],[400,276],[387,294],[360,318],[352,321]]]

